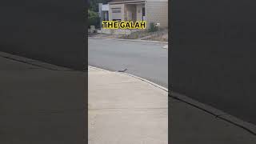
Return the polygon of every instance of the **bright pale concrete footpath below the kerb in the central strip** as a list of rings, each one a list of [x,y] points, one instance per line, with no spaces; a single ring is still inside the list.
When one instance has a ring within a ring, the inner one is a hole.
[[[89,69],[90,144],[167,144],[167,92],[139,79]]]

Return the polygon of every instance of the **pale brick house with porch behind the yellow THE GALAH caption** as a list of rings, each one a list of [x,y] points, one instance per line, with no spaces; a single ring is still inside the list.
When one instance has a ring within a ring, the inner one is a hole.
[[[162,28],[168,27],[168,0],[112,0],[107,5],[99,5],[102,20],[146,21],[147,28],[151,22],[159,23]]]

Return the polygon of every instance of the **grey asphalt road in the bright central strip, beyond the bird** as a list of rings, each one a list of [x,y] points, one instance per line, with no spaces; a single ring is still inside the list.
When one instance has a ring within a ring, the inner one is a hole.
[[[163,46],[166,44],[89,38],[88,63],[106,70],[127,69],[126,73],[167,88],[168,50]]]

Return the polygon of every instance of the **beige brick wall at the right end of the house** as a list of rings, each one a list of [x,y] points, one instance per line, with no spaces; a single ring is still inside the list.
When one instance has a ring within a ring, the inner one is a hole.
[[[167,0],[147,0],[146,1],[146,22],[160,23],[160,27],[168,27],[168,1]]]

